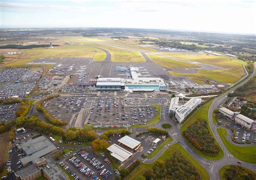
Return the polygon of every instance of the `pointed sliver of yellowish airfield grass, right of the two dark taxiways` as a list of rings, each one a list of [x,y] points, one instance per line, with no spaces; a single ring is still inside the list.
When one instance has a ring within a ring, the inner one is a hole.
[[[153,54],[146,54],[154,63],[164,68],[200,68],[197,64],[192,64],[184,61],[178,61],[169,59],[167,57],[161,57]]]

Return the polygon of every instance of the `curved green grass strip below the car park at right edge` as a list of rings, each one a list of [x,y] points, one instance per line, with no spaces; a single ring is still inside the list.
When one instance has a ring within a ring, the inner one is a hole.
[[[218,128],[217,131],[224,145],[234,157],[237,157],[241,161],[256,163],[256,146],[235,146],[225,138],[227,134],[226,129]]]

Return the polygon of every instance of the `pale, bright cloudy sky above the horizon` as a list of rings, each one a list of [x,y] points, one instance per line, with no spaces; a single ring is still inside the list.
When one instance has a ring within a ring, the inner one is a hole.
[[[33,27],[256,34],[256,0],[0,0],[0,28]]]

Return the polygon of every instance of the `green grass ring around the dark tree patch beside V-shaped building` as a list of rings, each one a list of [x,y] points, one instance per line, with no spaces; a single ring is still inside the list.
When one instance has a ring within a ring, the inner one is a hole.
[[[186,120],[186,123],[181,126],[180,133],[183,136],[183,138],[185,139],[185,141],[187,142],[187,144],[190,145],[193,148],[193,150],[195,152],[197,152],[200,156],[204,157],[207,160],[220,160],[220,159],[223,158],[224,153],[223,153],[223,149],[221,149],[221,147],[219,146],[219,143],[216,141],[215,138],[214,138],[214,141],[215,141],[216,145],[219,147],[220,153],[217,156],[211,156],[211,155],[201,153],[196,147],[191,145],[191,143],[188,142],[187,139],[185,138],[185,136],[183,135],[183,132],[186,131],[188,126],[192,125],[199,118],[201,118],[201,119],[205,119],[207,121],[207,126],[208,126],[208,129],[209,129],[209,132],[213,136],[213,133],[212,133],[212,130],[210,128],[209,121],[208,121],[208,109],[211,106],[212,102],[213,102],[213,99],[209,100],[207,103],[202,105],[196,112],[194,112],[194,114],[192,114],[192,116],[190,116]]]

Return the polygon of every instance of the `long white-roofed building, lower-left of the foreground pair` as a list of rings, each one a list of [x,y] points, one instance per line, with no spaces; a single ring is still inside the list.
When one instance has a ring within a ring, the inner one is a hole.
[[[113,156],[118,162],[123,163],[124,161],[130,159],[132,157],[132,153],[128,150],[113,144],[107,148],[109,150],[111,156]]]

